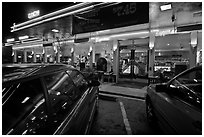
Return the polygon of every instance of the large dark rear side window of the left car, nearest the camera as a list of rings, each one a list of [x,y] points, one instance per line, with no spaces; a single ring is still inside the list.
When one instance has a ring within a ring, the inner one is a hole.
[[[40,79],[3,88],[3,134],[47,134],[48,111]]]

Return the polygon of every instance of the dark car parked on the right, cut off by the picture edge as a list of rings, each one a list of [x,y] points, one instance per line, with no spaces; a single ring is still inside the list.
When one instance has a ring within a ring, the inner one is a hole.
[[[146,114],[150,125],[158,123],[165,134],[202,134],[202,66],[150,84]]]

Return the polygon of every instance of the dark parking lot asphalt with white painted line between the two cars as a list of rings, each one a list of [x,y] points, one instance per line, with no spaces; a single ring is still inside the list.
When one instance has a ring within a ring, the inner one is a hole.
[[[145,101],[141,99],[110,95],[102,97],[90,134],[162,135],[158,125],[151,127],[148,124],[145,111]]]

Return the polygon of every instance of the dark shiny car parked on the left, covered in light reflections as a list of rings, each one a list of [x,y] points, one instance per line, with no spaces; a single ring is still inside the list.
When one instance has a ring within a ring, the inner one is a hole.
[[[2,134],[88,134],[98,81],[63,64],[3,65],[2,72]]]

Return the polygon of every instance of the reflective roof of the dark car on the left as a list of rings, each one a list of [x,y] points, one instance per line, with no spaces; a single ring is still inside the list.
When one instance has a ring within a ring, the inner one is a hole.
[[[64,64],[3,64],[2,82],[14,81],[33,76],[40,76],[64,69],[75,69]]]

